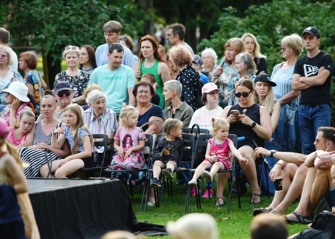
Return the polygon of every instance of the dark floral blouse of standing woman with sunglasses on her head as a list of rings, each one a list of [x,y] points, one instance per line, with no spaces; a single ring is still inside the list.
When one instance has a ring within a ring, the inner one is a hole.
[[[88,85],[90,78],[91,76],[88,73],[85,73],[83,71],[80,71],[79,76],[68,76],[66,72],[62,72],[56,75],[53,88],[55,88],[55,85],[57,82],[67,81],[70,83],[71,88],[73,92],[75,93],[74,97],[78,97],[84,94],[84,91],[86,90],[86,87]]]

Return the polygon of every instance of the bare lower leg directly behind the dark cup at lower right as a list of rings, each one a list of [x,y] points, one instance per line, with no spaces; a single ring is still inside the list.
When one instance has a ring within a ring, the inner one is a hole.
[[[275,191],[274,199],[272,200],[269,208],[275,209],[283,201],[289,187],[291,186],[291,182],[297,169],[298,167],[294,163],[286,163],[285,166],[282,168],[283,190],[280,192]]]

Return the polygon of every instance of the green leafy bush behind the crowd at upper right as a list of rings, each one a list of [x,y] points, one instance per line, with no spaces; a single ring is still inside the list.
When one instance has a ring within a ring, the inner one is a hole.
[[[319,29],[321,34],[320,50],[335,56],[335,1],[311,3],[310,1],[274,0],[261,6],[251,6],[245,17],[237,17],[237,10],[232,7],[224,9],[218,19],[220,29],[200,43],[200,49],[212,47],[218,56],[224,56],[224,44],[233,37],[242,37],[251,32],[257,38],[261,52],[267,56],[267,70],[271,75],[273,67],[284,61],[280,51],[280,41],[292,33],[301,36],[308,26]],[[306,54],[306,51],[302,55]],[[221,59],[219,57],[219,59]],[[335,114],[335,85],[332,83],[332,116]],[[332,117],[335,119],[335,117]],[[335,122],[332,121],[332,125]]]

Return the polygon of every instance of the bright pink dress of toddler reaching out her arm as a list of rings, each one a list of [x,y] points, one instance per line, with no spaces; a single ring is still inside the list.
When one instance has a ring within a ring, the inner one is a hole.
[[[226,167],[226,169],[230,169],[231,167],[231,163],[230,163],[230,152],[231,151],[229,148],[230,142],[231,140],[228,138],[226,138],[225,141],[220,145],[215,142],[214,138],[208,141],[208,143],[211,144],[211,156],[217,156],[218,162],[222,162],[223,165]],[[205,159],[204,161],[210,162],[210,160],[208,159]]]

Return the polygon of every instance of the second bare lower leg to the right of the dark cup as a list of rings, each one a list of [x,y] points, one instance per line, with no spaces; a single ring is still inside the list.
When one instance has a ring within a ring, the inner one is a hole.
[[[290,206],[290,204],[301,194],[307,171],[308,167],[306,167],[304,163],[298,167],[291,186],[289,187],[283,201],[276,208],[274,208],[276,212],[283,215],[288,206]]]

